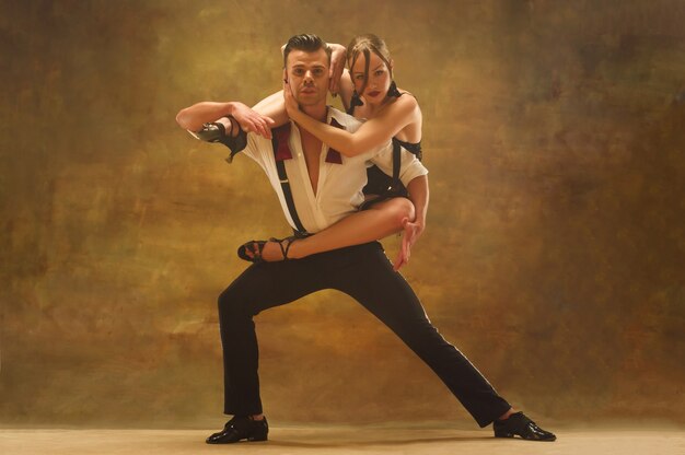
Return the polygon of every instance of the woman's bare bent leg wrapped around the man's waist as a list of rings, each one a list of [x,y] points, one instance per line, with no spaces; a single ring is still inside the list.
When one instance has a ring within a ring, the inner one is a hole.
[[[373,242],[404,229],[414,221],[414,205],[407,198],[393,198],[371,206],[368,210],[350,214],[332,226],[290,245],[288,258],[299,259],[316,253]],[[283,255],[275,242],[268,242],[262,252],[267,261],[282,260]]]

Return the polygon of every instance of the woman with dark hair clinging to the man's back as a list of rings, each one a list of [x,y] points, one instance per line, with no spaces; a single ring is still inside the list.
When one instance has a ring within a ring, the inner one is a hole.
[[[340,48],[334,47],[338,55]],[[283,98],[278,94],[271,95],[256,105],[255,110],[276,118],[277,122],[285,119],[283,110],[287,112],[301,128],[345,156],[363,153],[394,138],[420,158],[421,110],[413,95],[395,85],[393,61],[385,43],[375,35],[358,36],[348,46],[347,59],[349,71],[346,70],[340,79],[342,103],[348,114],[367,119],[355,133],[322,124],[300,112],[287,81],[283,83]],[[264,128],[257,130],[263,131]],[[426,226],[428,200],[415,200],[413,203],[406,197],[397,197],[407,195],[404,187],[388,194],[386,188],[391,179],[381,174],[378,168],[371,170],[362,211],[305,238],[248,242],[240,248],[239,255],[246,260],[266,261],[302,258],[372,242],[404,230],[402,249],[394,264],[395,269],[399,269],[408,261],[410,247]],[[427,185],[427,180],[420,184]],[[407,190],[410,197],[411,188]]]

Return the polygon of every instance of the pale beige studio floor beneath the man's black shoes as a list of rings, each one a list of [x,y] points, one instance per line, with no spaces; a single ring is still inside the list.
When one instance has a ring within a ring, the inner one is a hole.
[[[556,442],[539,443],[495,439],[489,430],[272,427],[268,442],[207,445],[214,430],[0,429],[0,454],[685,454],[685,431],[676,428],[554,430]]]

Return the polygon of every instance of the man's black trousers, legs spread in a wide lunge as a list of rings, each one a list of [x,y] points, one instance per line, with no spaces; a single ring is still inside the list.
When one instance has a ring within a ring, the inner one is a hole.
[[[349,294],[397,334],[480,427],[510,408],[468,359],[442,338],[409,284],[393,270],[381,244],[372,242],[303,259],[255,264],[221,293],[227,415],[262,413],[253,316],[322,289]]]

